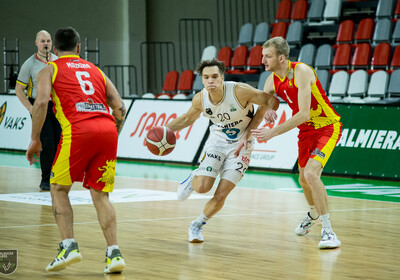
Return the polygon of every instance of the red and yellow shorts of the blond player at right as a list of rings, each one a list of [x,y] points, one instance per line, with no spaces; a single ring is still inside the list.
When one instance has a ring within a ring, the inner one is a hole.
[[[310,131],[299,133],[299,166],[305,167],[308,159],[318,160],[325,166],[333,149],[342,136],[342,123],[337,122]]]

